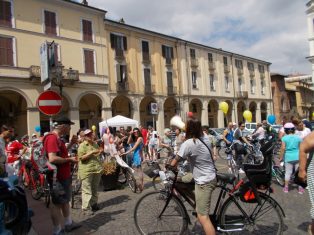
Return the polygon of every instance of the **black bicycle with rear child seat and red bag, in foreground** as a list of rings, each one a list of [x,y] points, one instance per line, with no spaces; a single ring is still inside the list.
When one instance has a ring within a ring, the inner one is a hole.
[[[269,164],[265,160],[260,165],[245,166],[246,181],[241,179],[231,188],[228,185],[233,184],[235,176],[217,174],[220,192],[214,212],[209,215],[217,231],[282,234],[285,214],[270,196]],[[134,221],[140,234],[184,234],[191,223],[183,199],[193,208],[195,200],[187,196],[187,184],[177,182],[177,174],[172,171],[167,171],[165,175],[165,189],[146,193],[135,205]],[[265,175],[265,181],[260,181]],[[261,182],[268,186],[264,192],[257,189],[257,186],[263,186]],[[194,184],[190,184],[190,187],[193,188]]]

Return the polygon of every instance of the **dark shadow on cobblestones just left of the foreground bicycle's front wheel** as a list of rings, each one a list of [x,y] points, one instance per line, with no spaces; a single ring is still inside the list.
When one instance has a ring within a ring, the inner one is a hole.
[[[81,221],[80,224],[82,224],[88,230],[88,233],[95,232],[98,231],[99,227],[103,226],[109,221],[115,220],[115,215],[122,214],[124,212],[125,210],[96,213],[91,218]]]

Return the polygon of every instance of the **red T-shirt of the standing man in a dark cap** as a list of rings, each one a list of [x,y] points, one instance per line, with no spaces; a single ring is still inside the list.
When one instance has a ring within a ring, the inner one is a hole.
[[[48,134],[44,137],[44,149],[48,153],[56,153],[58,157],[68,158],[68,150],[64,142],[56,134]],[[56,164],[58,180],[62,181],[71,177],[70,162]]]

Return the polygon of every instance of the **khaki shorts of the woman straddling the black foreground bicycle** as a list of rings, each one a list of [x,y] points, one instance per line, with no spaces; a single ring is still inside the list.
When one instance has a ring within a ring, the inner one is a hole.
[[[216,179],[213,179],[206,184],[195,184],[195,210],[197,214],[209,215],[211,196],[216,185]]]

